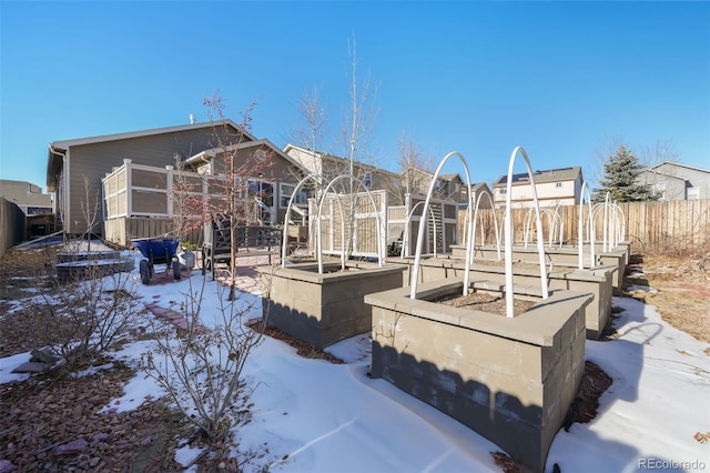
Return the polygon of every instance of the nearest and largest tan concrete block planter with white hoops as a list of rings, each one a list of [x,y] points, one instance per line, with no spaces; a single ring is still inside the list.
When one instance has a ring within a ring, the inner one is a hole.
[[[588,294],[556,291],[506,318],[430,302],[462,281],[365,296],[373,312],[373,378],[458,420],[532,471],[575,399],[585,363]]]

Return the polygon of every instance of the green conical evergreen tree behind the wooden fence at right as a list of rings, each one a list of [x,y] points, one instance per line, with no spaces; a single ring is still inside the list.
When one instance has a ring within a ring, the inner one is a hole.
[[[651,185],[639,181],[643,170],[636,154],[621,144],[604,163],[604,177],[600,187],[594,191],[592,200],[604,202],[607,192],[617,202],[657,200]]]

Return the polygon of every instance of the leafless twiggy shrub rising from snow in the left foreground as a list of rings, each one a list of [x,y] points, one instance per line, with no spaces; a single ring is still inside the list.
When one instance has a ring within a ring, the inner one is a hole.
[[[265,318],[250,323],[248,314],[260,298],[236,293],[217,285],[219,306],[214,324],[202,325],[205,279],[199,288],[190,280],[189,292],[172,301],[183,315],[176,331],[155,331],[158,350],[145,353],[142,368],[168,393],[185,420],[192,423],[210,445],[230,441],[230,429],[239,422],[250,392],[244,389],[242,370],[252,350],[262,341]]]

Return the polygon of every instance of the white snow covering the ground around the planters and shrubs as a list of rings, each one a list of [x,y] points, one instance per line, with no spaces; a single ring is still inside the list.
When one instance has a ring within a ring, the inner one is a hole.
[[[133,278],[143,301],[164,306],[187,289],[186,280],[141,285],[138,270]],[[202,275],[195,271],[192,278],[195,283]],[[205,325],[219,313],[214,282],[207,291],[213,293],[202,310]],[[710,471],[710,443],[693,439],[710,432],[710,355],[703,352],[710,345],[663,322],[651,305],[628,298],[615,298],[613,305],[623,309],[620,336],[587,343],[587,359],[613,383],[592,422],[558,433],[546,471],[555,464],[564,472]],[[135,362],[154,349],[153,342],[136,342],[116,356]],[[366,335],[328,351],[346,363],[303,359],[270,338],[252,352],[245,375],[254,390],[253,416],[234,430],[241,454],[255,454],[245,471],[264,465],[283,472],[499,471],[490,455],[498,446],[392,384],[367,378]],[[10,372],[29,356],[0,359],[0,382],[27,376]],[[158,392],[139,372],[106,407],[135,409]],[[199,453],[185,446],[176,460],[186,464]]]

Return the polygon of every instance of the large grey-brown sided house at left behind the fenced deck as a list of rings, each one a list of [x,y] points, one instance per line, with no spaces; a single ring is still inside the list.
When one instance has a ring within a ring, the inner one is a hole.
[[[128,133],[109,134],[102,137],[81,138],[75,140],[55,141],[49,145],[47,165],[47,187],[55,192],[55,214],[63,222],[67,232],[82,233],[87,231],[84,209],[87,202],[91,208],[98,204],[105,212],[105,195],[98,195],[101,190],[102,179],[123,165],[153,167],[155,172],[143,172],[143,181],[131,181],[132,189],[139,194],[129,199],[129,202],[141,203],[140,192],[161,192],[165,195],[166,167],[190,168],[195,170],[210,170],[215,153],[213,150],[221,143],[240,143],[244,152],[268,152],[275,159],[284,160],[285,155],[266,140],[256,140],[250,133],[244,132],[233,121],[226,120],[220,123],[191,123],[178,127],[141,130]],[[250,144],[251,143],[251,144]],[[203,154],[204,153],[204,154]],[[291,165],[292,162],[288,162]],[[271,183],[287,182],[278,172],[286,164],[276,163],[267,167],[261,178],[253,175],[251,179],[258,181],[264,179]],[[159,172],[160,171],[160,172]],[[219,171],[217,171],[219,172]],[[255,172],[256,173],[256,172]],[[89,189],[87,189],[87,184]],[[297,182],[297,181],[296,181]],[[278,187],[274,185],[277,190]],[[283,187],[282,187],[283,189]],[[89,197],[88,197],[89,194]],[[281,195],[273,195],[274,202],[280,202]],[[163,197],[163,209],[165,197]],[[275,203],[274,203],[275,205]],[[272,205],[273,207],[273,205]],[[98,222],[93,232],[102,233],[103,213],[99,212]],[[164,211],[163,211],[164,212]],[[129,212],[130,213],[130,212]],[[132,217],[125,214],[124,217]],[[160,212],[143,212],[141,217],[165,218]],[[153,236],[153,235],[143,235]]]

